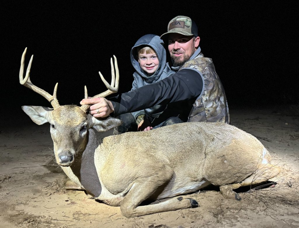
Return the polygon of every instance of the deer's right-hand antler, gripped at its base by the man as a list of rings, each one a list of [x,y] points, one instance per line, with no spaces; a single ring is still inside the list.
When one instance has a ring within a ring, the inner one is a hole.
[[[110,94],[114,94],[117,93],[118,91],[118,84],[119,84],[119,71],[118,71],[118,64],[117,64],[117,59],[115,57],[115,55],[113,55],[114,57],[114,62],[115,62],[115,72],[114,72],[114,65],[113,65],[113,61],[112,58],[110,59],[110,63],[111,63],[111,84],[109,85],[109,83],[106,81],[106,79],[103,77],[103,75],[101,74],[101,72],[99,71],[99,75],[102,79],[102,81],[104,82],[104,84],[106,85],[107,89],[105,92],[97,94],[95,96],[93,96],[92,98],[97,98],[97,97],[107,97]],[[116,74],[116,77],[115,77]],[[85,87],[85,94],[87,95],[87,89]],[[85,95],[85,96],[86,96]],[[87,111],[87,109],[90,107],[90,105],[82,105],[81,109],[83,111]]]

